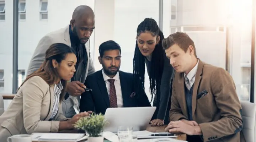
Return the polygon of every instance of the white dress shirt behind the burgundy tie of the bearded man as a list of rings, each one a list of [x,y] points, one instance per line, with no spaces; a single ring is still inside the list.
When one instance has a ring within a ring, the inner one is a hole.
[[[108,81],[108,79],[114,79],[115,80],[114,81],[114,86],[116,88],[117,107],[122,108],[123,107],[123,96],[122,96],[122,89],[121,89],[119,72],[117,72],[116,76],[114,76],[113,78],[108,77],[103,70],[102,70],[102,74],[103,74],[103,79],[106,83],[108,98],[109,98],[109,95],[110,95],[110,82]]]

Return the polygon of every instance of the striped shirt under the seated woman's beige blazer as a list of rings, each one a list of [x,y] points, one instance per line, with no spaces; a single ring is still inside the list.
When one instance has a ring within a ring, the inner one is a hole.
[[[55,115],[58,113],[59,110],[59,100],[60,100],[60,93],[62,92],[63,86],[62,83],[59,82],[58,84],[54,84],[54,98],[53,98],[53,109],[50,119],[53,119]]]

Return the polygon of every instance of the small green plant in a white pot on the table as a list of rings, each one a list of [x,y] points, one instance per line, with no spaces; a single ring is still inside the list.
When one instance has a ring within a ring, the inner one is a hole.
[[[86,132],[88,142],[103,142],[102,131],[105,124],[104,115],[92,113],[89,117],[81,117],[74,127]]]

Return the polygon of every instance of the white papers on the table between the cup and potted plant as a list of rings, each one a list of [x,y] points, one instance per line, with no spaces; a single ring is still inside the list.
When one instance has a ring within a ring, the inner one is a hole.
[[[78,142],[86,140],[87,136],[82,133],[32,133],[32,141],[61,141]]]

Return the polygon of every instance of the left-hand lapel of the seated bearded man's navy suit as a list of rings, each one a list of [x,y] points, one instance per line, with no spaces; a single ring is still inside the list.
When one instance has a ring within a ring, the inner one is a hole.
[[[107,108],[110,107],[110,102],[109,102],[109,97],[108,97],[108,93],[107,93],[107,87],[106,87],[106,82],[104,81],[103,75],[102,75],[102,70],[97,72],[97,83],[98,83],[98,88],[101,91],[101,96],[103,97]]]

